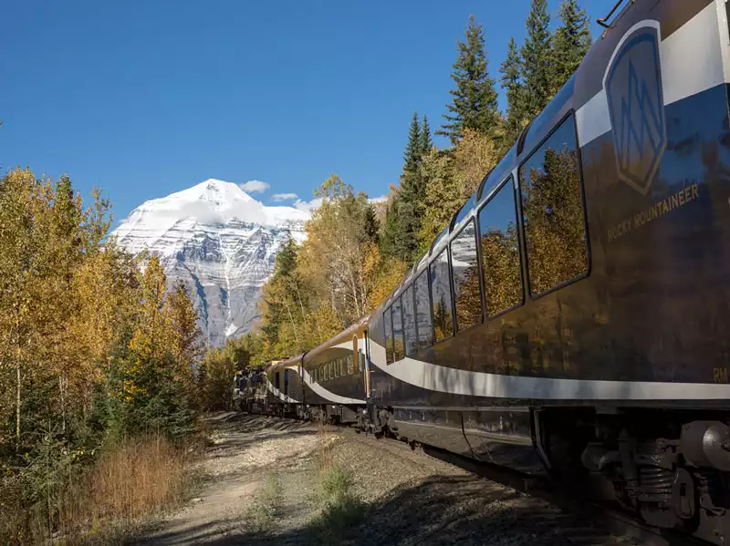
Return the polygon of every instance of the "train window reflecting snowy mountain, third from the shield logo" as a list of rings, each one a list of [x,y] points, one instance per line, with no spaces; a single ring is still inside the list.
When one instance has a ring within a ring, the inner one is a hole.
[[[464,330],[482,320],[482,294],[479,287],[479,259],[476,256],[476,229],[469,221],[451,242],[454,277],[456,327]]]

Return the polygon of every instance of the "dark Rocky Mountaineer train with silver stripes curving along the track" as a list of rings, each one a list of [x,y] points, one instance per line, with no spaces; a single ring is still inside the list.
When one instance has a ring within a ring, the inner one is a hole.
[[[619,2],[386,301],[253,372],[246,404],[590,484],[723,544],[728,5]]]

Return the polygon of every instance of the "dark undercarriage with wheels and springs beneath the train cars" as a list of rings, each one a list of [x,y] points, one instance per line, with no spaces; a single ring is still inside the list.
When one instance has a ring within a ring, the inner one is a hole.
[[[390,407],[269,404],[245,411],[408,438]],[[730,529],[730,427],[723,412],[556,407],[534,411],[545,475],[560,489],[652,527],[715,544]]]

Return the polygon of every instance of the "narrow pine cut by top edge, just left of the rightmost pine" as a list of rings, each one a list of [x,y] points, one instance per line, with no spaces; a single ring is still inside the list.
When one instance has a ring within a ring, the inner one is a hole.
[[[528,117],[546,107],[552,92],[550,59],[550,16],[547,0],[532,0],[527,16],[527,38],[522,46],[522,78],[525,82],[525,108]]]

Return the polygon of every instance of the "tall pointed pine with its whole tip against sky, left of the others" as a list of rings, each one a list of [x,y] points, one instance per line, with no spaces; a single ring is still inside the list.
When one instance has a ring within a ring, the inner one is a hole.
[[[458,42],[459,55],[452,74],[456,88],[449,91],[454,99],[446,107],[450,113],[443,116],[447,123],[437,133],[449,137],[454,145],[464,129],[488,133],[499,123],[495,81],[489,77],[485,38],[474,15],[469,17],[464,37],[464,42]]]

